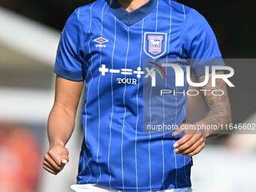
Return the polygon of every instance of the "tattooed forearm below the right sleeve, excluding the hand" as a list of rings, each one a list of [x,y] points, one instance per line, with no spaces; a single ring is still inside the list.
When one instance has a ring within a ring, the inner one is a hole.
[[[222,74],[222,72],[218,72]],[[198,78],[199,82],[203,82],[205,79],[204,76]],[[212,87],[212,77],[206,86],[202,87],[203,90],[223,90],[223,96],[214,96],[211,92],[208,92],[204,97],[207,108],[209,109],[208,114],[203,120],[200,120],[198,123],[205,124],[227,124],[232,120],[230,102],[227,96],[227,87],[225,82],[222,79],[216,80],[216,87]],[[209,133],[209,134],[219,134],[219,132]]]

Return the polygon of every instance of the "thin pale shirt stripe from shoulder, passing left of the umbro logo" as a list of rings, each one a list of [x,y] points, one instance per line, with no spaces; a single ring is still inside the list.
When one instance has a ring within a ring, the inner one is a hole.
[[[93,3],[93,5],[95,4],[95,2]],[[92,27],[92,8],[93,8],[93,5],[91,5],[90,6],[90,27],[89,27],[89,30],[88,30],[88,33],[90,34],[90,29],[91,29],[91,27]],[[90,35],[90,39],[91,39],[92,37],[91,37],[91,35]],[[89,49],[89,53],[90,53],[90,58],[91,58],[91,66],[93,66],[93,56],[92,56],[92,53],[91,53],[91,51],[90,51],[90,41],[88,41],[88,49]],[[89,70],[90,68],[88,68],[88,70]],[[88,89],[87,89],[87,100],[88,100],[88,96],[89,96],[89,94],[90,94],[90,85],[92,84],[92,81],[93,81],[93,73],[92,73],[92,71],[90,70],[90,75],[92,76],[92,80],[90,81],[90,84],[89,84],[89,86],[88,86]],[[87,106],[85,105],[85,142],[86,142],[86,145],[87,145]],[[87,146],[87,148],[88,148],[88,146]],[[90,160],[88,160],[87,161],[87,168],[89,169],[89,172],[90,172],[90,178],[92,178],[92,172],[91,172],[91,170],[90,170],[90,166],[89,166],[89,161]],[[84,163],[84,158],[83,158],[83,163]],[[90,178],[88,178],[87,179],[87,182],[90,180]]]

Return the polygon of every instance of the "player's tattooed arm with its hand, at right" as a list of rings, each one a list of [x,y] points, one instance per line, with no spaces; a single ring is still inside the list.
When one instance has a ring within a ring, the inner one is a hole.
[[[203,82],[205,75],[202,75],[198,78],[199,82]],[[210,79],[211,75],[210,75]],[[178,136],[180,133],[184,133],[184,136],[175,143],[174,151],[178,154],[184,154],[187,156],[193,156],[198,154],[205,146],[206,138],[213,135],[220,134],[220,130],[197,130],[197,125],[217,125],[227,124],[231,122],[231,111],[230,111],[230,102],[227,95],[227,87],[224,81],[221,79],[216,80],[216,87],[212,87],[212,81],[210,80],[206,86],[202,87],[202,90],[211,90],[207,91],[204,95],[204,100],[209,109],[208,114],[203,120],[200,120],[197,123],[192,124],[195,127],[195,131],[191,130],[182,130],[179,129],[175,131],[172,135]],[[223,96],[213,96],[212,90],[223,90]],[[184,124],[181,124],[184,126]],[[181,127],[180,126],[180,127]],[[219,126],[220,127],[220,126]]]

